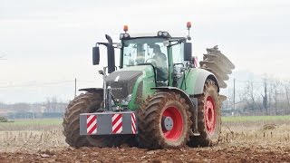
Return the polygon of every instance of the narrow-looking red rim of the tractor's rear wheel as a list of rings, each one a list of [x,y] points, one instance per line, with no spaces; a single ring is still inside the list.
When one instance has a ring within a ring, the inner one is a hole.
[[[209,135],[214,134],[216,129],[216,122],[217,115],[215,102],[211,96],[208,96],[205,103],[205,124]]]

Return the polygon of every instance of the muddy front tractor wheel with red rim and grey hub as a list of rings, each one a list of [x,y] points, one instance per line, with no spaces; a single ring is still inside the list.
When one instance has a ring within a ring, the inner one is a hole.
[[[178,149],[190,133],[189,105],[174,92],[158,91],[138,111],[139,143],[147,149]]]

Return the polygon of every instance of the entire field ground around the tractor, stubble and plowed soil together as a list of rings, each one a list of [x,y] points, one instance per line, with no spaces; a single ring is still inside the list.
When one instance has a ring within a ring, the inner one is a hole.
[[[290,162],[290,116],[225,117],[210,148],[70,148],[62,120],[0,123],[0,162]]]

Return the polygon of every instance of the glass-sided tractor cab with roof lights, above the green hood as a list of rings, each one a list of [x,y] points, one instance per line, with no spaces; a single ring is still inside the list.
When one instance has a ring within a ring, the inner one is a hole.
[[[120,67],[151,65],[154,68],[156,86],[181,87],[184,72],[191,62],[191,43],[188,38],[171,37],[160,31],[151,35],[120,34]],[[190,64],[191,65],[191,64]]]

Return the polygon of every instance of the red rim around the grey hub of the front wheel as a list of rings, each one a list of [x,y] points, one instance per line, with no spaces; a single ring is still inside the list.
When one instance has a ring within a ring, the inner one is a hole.
[[[179,139],[183,130],[183,120],[180,111],[175,106],[170,106],[163,111],[162,116],[170,117],[173,121],[172,129],[162,129],[164,137],[169,140]]]

